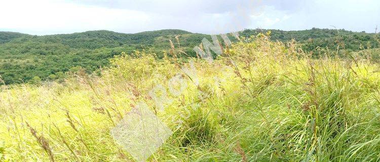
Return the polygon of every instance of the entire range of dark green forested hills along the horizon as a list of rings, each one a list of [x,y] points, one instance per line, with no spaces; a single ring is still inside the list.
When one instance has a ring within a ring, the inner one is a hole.
[[[315,28],[271,31],[273,40],[289,42],[294,38],[305,51],[314,51],[318,46],[336,48],[342,42],[345,49],[351,51],[378,48],[378,42],[374,38],[378,35],[373,33]],[[240,35],[248,37],[260,32],[267,30],[247,29],[241,31]],[[44,36],[0,32],[0,75],[6,84],[24,83],[33,77],[37,80],[61,78],[65,72],[78,67],[93,72],[100,66],[109,65],[108,60],[121,52],[145,50],[155,52],[160,57],[163,50],[170,49],[169,39],[177,46],[176,35],[179,35],[182,50],[192,56],[195,56],[192,49],[204,37],[211,41],[210,35],[177,29],[134,34],[97,30]],[[236,40],[232,38],[232,41]]]

